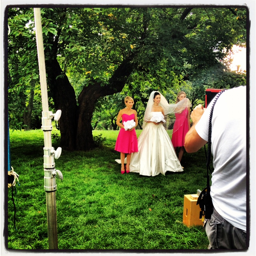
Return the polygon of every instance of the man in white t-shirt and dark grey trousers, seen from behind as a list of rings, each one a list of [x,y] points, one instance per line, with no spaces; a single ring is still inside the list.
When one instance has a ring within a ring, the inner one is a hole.
[[[198,105],[191,113],[193,125],[185,149],[193,153],[208,139],[211,106]],[[206,222],[208,249],[246,249],[246,86],[229,89],[218,98],[212,116],[213,213]]]

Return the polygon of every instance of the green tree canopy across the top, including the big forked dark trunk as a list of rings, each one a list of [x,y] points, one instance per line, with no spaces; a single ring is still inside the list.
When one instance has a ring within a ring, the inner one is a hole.
[[[142,115],[152,90],[173,99],[183,88],[196,103],[207,86],[244,84],[245,75],[221,60],[224,47],[246,43],[246,14],[243,7],[41,8],[49,101],[62,110],[61,146],[93,148],[92,121],[104,109],[114,127],[122,95],[133,97]],[[9,117],[17,129],[39,86],[33,9],[9,8],[8,25]]]

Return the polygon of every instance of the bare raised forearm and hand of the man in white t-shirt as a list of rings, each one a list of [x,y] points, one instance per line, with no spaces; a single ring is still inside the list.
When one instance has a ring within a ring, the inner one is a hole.
[[[206,140],[202,139],[196,132],[196,124],[204,114],[205,108],[201,104],[196,106],[192,111],[190,117],[193,121],[193,125],[185,136],[185,149],[188,153],[194,153],[206,144]]]

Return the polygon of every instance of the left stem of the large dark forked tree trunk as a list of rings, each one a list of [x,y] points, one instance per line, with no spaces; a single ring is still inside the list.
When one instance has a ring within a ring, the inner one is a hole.
[[[74,88],[66,74],[60,68],[56,58],[45,62],[48,83],[56,110],[61,110],[59,120],[60,147],[68,150],[76,149],[77,105]],[[57,76],[62,75],[56,79]],[[92,132],[92,131],[91,131]]]

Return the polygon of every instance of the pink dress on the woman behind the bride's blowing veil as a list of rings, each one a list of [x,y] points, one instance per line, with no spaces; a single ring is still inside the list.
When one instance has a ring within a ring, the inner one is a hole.
[[[175,117],[172,145],[173,147],[183,147],[185,136],[188,132],[188,108],[184,109],[181,113],[175,113]]]

